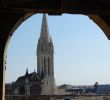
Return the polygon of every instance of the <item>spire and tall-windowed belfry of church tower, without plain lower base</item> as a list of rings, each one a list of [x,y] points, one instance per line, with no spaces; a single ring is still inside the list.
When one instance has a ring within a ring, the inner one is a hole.
[[[53,67],[54,47],[48,31],[46,14],[43,14],[41,34],[37,44],[37,72],[44,77],[50,74],[49,67]],[[42,55],[42,56],[41,56]],[[52,64],[51,64],[52,63]],[[52,73],[53,71],[51,71]]]

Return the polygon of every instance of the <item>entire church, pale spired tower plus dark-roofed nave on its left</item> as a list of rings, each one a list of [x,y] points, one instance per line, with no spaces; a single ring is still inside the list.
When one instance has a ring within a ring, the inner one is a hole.
[[[43,14],[41,33],[37,44],[37,72],[28,73],[6,84],[6,95],[53,95],[56,91],[54,78],[54,47],[49,34],[46,14]]]

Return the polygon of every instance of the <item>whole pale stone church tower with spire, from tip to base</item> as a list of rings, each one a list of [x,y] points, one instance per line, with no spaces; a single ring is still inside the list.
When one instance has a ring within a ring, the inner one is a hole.
[[[42,95],[55,94],[54,47],[49,34],[46,14],[43,14],[37,45],[37,73],[42,80]]]

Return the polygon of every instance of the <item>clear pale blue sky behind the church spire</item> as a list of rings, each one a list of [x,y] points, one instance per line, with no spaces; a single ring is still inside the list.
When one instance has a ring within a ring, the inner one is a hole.
[[[56,85],[110,84],[110,40],[88,16],[47,16],[54,44]],[[24,21],[7,48],[6,83],[16,81],[28,68],[37,71],[36,48],[42,14]]]

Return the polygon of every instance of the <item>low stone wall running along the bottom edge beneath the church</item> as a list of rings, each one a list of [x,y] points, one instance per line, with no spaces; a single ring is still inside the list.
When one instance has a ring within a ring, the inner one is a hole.
[[[6,96],[6,100],[66,100],[66,97],[64,98],[55,99],[55,97],[50,96]],[[110,100],[110,96],[79,96],[75,98],[70,97],[70,100]]]

